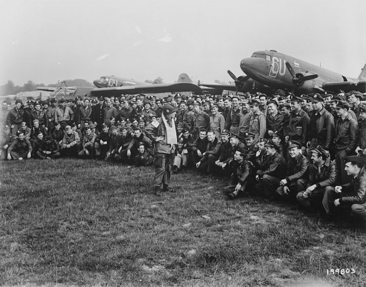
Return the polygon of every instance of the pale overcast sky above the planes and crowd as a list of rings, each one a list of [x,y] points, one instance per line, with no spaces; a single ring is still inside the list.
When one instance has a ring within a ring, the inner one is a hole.
[[[0,84],[229,81],[265,49],[354,78],[366,63],[365,0],[6,0],[0,24]]]

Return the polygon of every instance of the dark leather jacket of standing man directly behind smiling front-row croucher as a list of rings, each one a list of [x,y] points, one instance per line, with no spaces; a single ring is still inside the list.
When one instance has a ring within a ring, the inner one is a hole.
[[[298,141],[302,146],[306,146],[309,137],[309,116],[300,110],[293,111],[284,120],[284,137],[288,135],[288,140]]]

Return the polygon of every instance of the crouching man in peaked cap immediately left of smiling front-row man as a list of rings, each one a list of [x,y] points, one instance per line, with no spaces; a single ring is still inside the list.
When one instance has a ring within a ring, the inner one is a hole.
[[[280,181],[286,172],[286,161],[281,156],[272,141],[265,144],[267,154],[269,155],[269,166],[265,170],[257,170],[255,179],[259,181],[255,185],[255,189],[259,193],[263,193],[264,201],[269,202],[274,198],[274,193],[280,185]]]

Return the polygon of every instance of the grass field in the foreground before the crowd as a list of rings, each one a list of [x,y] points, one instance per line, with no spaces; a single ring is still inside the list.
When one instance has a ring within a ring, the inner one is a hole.
[[[229,201],[227,180],[194,171],[156,197],[150,167],[0,164],[0,285],[366,286],[354,219]]]

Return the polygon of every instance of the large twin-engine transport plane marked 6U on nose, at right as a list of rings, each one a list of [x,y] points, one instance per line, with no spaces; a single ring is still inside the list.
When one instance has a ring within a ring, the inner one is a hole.
[[[310,64],[292,56],[275,50],[256,51],[250,58],[244,58],[240,67],[246,76],[236,77],[228,71],[234,79],[236,90],[251,91],[255,86],[261,88],[284,89],[295,93],[310,93],[319,91],[366,91],[366,71],[362,69],[358,79],[342,76],[336,72]],[[205,85],[205,84],[202,84]],[[209,84],[212,88],[221,85]],[[229,86],[225,86],[229,89]],[[234,90],[234,85],[231,86]]]

